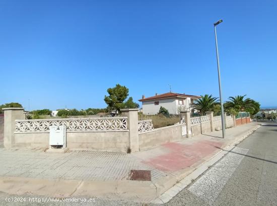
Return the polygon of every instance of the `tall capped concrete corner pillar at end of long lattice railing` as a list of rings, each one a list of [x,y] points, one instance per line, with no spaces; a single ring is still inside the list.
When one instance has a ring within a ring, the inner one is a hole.
[[[138,109],[121,109],[122,116],[128,117],[127,129],[129,130],[129,146],[132,152],[140,150],[140,143],[138,141]]]

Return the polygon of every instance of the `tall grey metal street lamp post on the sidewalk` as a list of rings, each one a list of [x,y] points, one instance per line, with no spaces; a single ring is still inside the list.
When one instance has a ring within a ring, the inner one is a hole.
[[[221,106],[221,123],[222,123],[222,137],[225,138],[225,117],[224,117],[224,108],[222,103],[222,92],[221,92],[221,80],[220,80],[220,66],[219,66],[219,54],[218,54],[218,39],[217,39],[217,29],[216,26],[222,23],[222,20],[219,20],[214,24],[215,28],[215,37],[216,37],[216,49],[217,49],[217,61],[218,61],[218,76],[219,76],[219,96],[220,96],[220,106]]]

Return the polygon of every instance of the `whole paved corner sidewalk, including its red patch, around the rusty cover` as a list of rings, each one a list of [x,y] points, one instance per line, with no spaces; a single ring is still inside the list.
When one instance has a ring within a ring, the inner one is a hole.
[[[228,129],[225,139],[218,131],[132,154],[0,149],[0,191],[57,197],[109,195],[149,202],[255,127]],[[150,170],[152,181],[129,180],[131,169]]]

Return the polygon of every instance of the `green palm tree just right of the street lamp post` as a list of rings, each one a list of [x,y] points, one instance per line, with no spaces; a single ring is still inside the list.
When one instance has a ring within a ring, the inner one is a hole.
[[[235,109],[238,112],[255,109],[255,101],[251,98],[244,99],[246,95],[229,96],[229,101],[224,104],[226,109]]]

